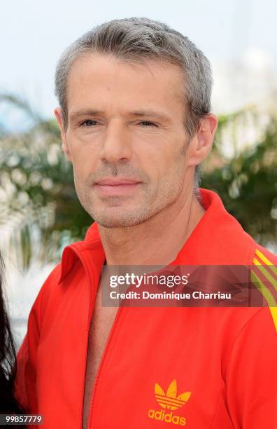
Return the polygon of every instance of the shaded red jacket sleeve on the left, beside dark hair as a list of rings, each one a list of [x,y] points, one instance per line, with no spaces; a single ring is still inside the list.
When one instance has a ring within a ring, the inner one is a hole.
[[[37,414],[36,355],[41,335],[43,314],[50,289],[59,280],[59,265],[50,273],[34,301],[28,318],[27,334],[17,353],[15,397],[29,414]]]

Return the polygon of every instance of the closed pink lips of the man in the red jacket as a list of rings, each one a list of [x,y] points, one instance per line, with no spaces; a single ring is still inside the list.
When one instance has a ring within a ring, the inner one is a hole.
[[[104,179],[94,184],[103,196],[129,196],[142,182],[131,179]]]

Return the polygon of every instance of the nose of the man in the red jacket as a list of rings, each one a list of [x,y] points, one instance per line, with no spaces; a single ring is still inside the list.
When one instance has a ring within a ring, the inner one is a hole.
[[[131,136],[124,123],[118,119],[111,120],[104,132],[101,161],[118,163],[130,161],[132,157]]]

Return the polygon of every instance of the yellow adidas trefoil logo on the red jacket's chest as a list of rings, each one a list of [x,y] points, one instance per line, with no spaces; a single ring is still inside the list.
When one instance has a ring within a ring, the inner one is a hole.
[[[184,426],[186,423],[185,417],[176,416],[172,411],[183,407],[183,405],[190,399],[190,395],[191,392],[180,393],[180,395],[177,395],[177,383],[175,379],[169,384],[166,393],[158,383],[155,383],[155,398],[157,403],[163,409],[150,409],[148,411],[148,417],[155,418],[155,420],[165,421],[166,423]],[[164,409],[171,410],[171,413],[166,413]]]

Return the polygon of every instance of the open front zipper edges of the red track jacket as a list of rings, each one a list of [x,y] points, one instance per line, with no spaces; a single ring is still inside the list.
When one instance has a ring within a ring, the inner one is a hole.
[[[89,271],[87,270],[86,263],[85,263],[83,257],[80,255],[80,252],[78,252],[78,250],[76,249],[76,247],[73,247],[73,245],[69,245],[69,247],[71,247],[71,249],[73,250],[73,252],[76,253],[76,255],[78,256],[78,258],[82,262],[82,264],[83,264],[83,266],[85,268],[85,273],[87,274],[87,276],[88,276],[88,278],[90,280]],[[80,415],[80,429],[83,429],[83,412],[84,412],[84,399],[85,399],[85,376],[86,376],[86,367],[87,367],[87,348],[88,348],[88,339],[89,339],[89,334],[90,334],[90,322],[91,322],[91,320],[90,320],[90,306],[91,306],[91,300],[92,300],[92,287],[91,287],[92,286],[92,282],[89,281],[89,284],[90,284],[90,292],[89,292],[90,299],[89,299],[89,304],[88,304],[88,309],[87,309],[88,310],[87,313],[89,315],[89,320],[88,320],[88,323],[87,323],[87,347],[86,347],[86,351],[85,351],[85,365],[84,365],[85,366],[85,375],[84,375],[84,378],[83,378],[83,402],[82,402],[82,405],[81,405],[81,413],[80,413],[81,414]],[[94,285],[95,285],[95,282],[94,282]],[[94,308],[95,297],[96,297],[96,293],[94,293],[94,301],[93,301],[93,306],[92,306],[92,315],[93,315],[93,308]],[[90,429],[90,427],[91,427],[90,423],[91,423],[91,418],[92,418],[92,409],[93,409],[93,404],[94,404],[94,395],[95,395],[95,391],[96,391],[98,380],[99,380],[99,374],[101,372],[101,367],[103,366],[104,358],[105,358],[105,355],[106,355],[106,350],[108,349],[108,345],[111,342],[111,337],[113,336],[113,332],[115,330],[115,325],[116,325],[116,323],[118,321],[118,317],[120,315],[121,308],[122,307],[119,307],[118,311],[115,314],[115,319],[113,320],[113,325],[111,327],[110,333],[108,334],[108,339],[107,339],[107,342],[105,344],[104,351],[103,351],[103,353],[101,355],[101,360],[99,362],[99,367],[97,368],[97,372],[95,374],[95,379],[94,379],[94,383],[93,383],[93,387],[92,387],[92,392],[91,392],[91,396],[90,396],[90,409],[89,409],[89,415],[88,415],[88,420],[87,420],[87,429]]]

